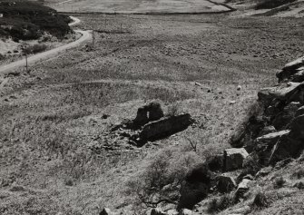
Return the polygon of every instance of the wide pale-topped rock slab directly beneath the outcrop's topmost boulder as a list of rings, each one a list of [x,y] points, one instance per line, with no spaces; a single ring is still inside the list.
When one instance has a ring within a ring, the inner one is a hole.
[[[267,107],[274,100],[284,103],[304,103],[304,83],[280,83],[277,86],[260,90],[258,97],[259,101]]]

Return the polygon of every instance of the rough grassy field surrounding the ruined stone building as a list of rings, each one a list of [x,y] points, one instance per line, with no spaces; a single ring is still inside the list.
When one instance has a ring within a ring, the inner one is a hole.
[[[132,211],[128,181],[163,151],[171,151],[169,169],[184,173],[229,147],[257,91],[304,52],[303,19],[79,18],[80,28],[94,29],[92,51],[83,44],[31,66],[30,73],[0,77],[1,214],[98,214],[103,206]],[[165,112],[172,105],[190,112],[196,123],[142,148],[109,133],[152,100]]]

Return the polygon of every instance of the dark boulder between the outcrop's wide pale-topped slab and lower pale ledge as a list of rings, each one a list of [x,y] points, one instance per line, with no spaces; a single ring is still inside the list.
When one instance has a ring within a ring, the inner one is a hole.
[[[277,130],[287,129],[300,106],[301,104],[299,102],[292,102],[286,105],[284,109],[274,117],[272,121],[274,127]]]

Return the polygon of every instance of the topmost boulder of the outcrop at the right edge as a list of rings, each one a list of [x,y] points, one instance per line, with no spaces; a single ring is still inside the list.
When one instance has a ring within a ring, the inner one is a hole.
[[[285,80],[289,80],[292,75],[297,73],[297,69],[304,65],[304,57],[300,57],[299,59],[286,64],[281,72],[277,73],[277,77],[279,78],[279,82],[283,82]]]

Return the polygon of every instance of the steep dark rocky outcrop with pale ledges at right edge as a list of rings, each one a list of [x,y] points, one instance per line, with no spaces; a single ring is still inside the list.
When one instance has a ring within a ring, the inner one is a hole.
[[[231,142],[258,154],[262,165],[297,157],[304,149],[304,57],[286,64],[277,74],[279,84],[258,93],[261,112]],[[273,132],[269,132],[269,131]]]

